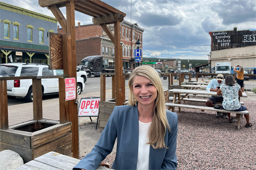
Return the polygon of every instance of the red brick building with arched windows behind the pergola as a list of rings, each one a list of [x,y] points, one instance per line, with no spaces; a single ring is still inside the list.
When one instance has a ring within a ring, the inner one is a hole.
[[[114,25],[108,25],[109,29],[114,34]],[[121,46],[123,47],[123,68],[135,68],[139,63],[135,62],[134,50],[136,48],[135,42],[140,39],[142,43],[142,33],[144,29],[137,24],[131,24],[123,20],[120,26]],[[58,26],[58,33],[63,34],[63,29]],[[114,44],[108,38],[107,34],[101,26],[90,24],[75,27],[76,36],[76,52],[77,64],[81,60],[90,55],[102,55],[106,66],[114,66],[115,49]],[[140,47],[142,50],[142,45]],[[142,60],[142,58],[141,58]]]

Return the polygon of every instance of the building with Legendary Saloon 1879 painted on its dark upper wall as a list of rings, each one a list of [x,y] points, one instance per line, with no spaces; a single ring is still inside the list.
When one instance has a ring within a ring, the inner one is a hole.
[[[216,62],[241,65],[249,73],[256,69],[256,31],[233,30],[209,32],[211,36],[211,69]]]

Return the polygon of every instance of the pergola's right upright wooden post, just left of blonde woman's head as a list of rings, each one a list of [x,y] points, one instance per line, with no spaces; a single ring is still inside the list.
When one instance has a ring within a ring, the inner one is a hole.
[[[122,92],[125,89],[122,89],[123,81],[123,69],[122,69],[122,49],[120,45],[120,21],[114,23],[115,30],[115,105],[123,105],[124,100],[122,98]]]

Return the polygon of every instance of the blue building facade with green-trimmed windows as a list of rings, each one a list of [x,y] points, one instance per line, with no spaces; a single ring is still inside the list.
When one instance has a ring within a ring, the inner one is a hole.
[[[57,32],[57,20],[0,2],[0,64],[49,64],[47,32]]]

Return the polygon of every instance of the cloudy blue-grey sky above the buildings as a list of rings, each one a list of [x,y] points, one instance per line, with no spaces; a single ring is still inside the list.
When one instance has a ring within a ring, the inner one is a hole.
[[[38,0],[0,0],[53,16]],[[256,0],[102,0],[143,28],[143,57],[208,59],[209,31],[256,30]],[[61,8],[66,16],[66,9]],[[131,15],[132,13],[132,15]],[[75,12],[75,25],[92,17]]]

